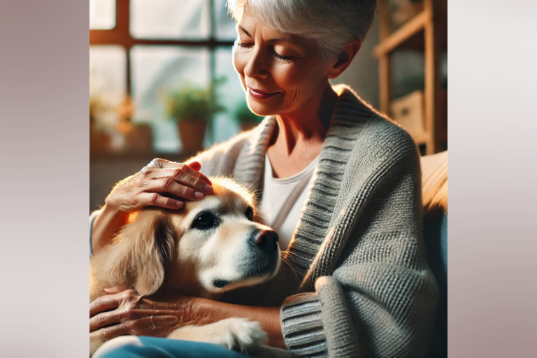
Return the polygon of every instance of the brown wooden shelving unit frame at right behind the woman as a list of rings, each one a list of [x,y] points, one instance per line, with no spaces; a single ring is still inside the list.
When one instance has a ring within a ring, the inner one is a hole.
[[[440,152],[447,145],[447,90],[441,86],[441,52],[447,51],[447,0],[423,0],[422,10],[394,31],[389,5],[389,0],[378,2],[380,42],[374,53],[379,59],[380,111],[392,115],[392,53],[422,51],[424,132],[414,138],[418,145],[425,145],[428,155]]]

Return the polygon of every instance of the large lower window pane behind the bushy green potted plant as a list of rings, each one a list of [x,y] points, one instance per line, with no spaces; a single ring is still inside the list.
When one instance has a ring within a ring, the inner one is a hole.
[[[166,96],[182,85],[208,87],[208,49],[135,46],[131,50],[132,96],[136,106],[133,122],[150,122],[157,152],[178,152],[181,148],[175,122],[166,113]],[[206,136],[206,146],[210,136]]]

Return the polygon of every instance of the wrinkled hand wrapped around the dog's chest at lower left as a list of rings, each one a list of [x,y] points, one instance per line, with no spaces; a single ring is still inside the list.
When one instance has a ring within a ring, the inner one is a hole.
[[[112,294],[90,303],[90,340],[108,341],[123,335],[166,337],[179,327],[193,324],[194,297],[140,296],[134,289],[114,293],[117,291],[106,289]]]

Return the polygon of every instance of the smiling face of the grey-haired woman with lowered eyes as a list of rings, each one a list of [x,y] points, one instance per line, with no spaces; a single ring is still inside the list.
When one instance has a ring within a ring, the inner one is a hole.
[[[293,113],[327,81],[324,62],[314,40],[272,29],[243,11],[237,23],[234,66],[250,109],[257,115]]]

